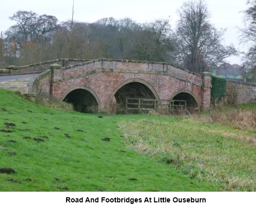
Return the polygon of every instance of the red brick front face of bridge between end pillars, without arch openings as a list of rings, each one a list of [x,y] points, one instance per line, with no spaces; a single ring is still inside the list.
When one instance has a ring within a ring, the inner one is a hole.
[[[94,60],[53,68],[51,73],[54,98],[63,100],[72,90],[84,88],[94,95],[99,112],[108,112],[118,89],[132,82],[146,85],[157,99],[172,99],[182,91],[193,95],[198,106],[210,107],[210,75],[189,73],[167,63]]]

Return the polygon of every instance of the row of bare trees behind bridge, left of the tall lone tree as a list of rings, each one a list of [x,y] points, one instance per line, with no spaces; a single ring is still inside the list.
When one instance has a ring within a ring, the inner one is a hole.
[[[1,38],[2,65],[57,58],[173,62],[174,42],[167,19],[138,24],[131,18],[109,17],[94,23],[69,20],[57,24],[56,17],[33,12],[18,11],[14,16],[17,24]]]

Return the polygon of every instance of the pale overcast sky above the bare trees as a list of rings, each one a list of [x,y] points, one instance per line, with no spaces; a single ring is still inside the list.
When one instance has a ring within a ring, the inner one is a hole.
[[[239,45],[238,29],[243,27],[243,13],[247,8],[247,0],[205,0],[211,14],[210,22],[217,29],[226,28],[223,44],[233,43],[236,48],[246,51],[246,47]],[[183,0],[75,0],[74,20],[94,22],[104,17],[116,19],[130,17],[136,22],[146,22],[158,18],[168,18],[175,28],[178,19],[177,10]],[[1,0],[0,3],[0,32],[5,32],[15,24],[9,19],[18,10],[33,11],[38,15],[56,16],[60,21],[72,17],[73,0]],[[240,64],[240,57],[228,58],[231,64]]]

